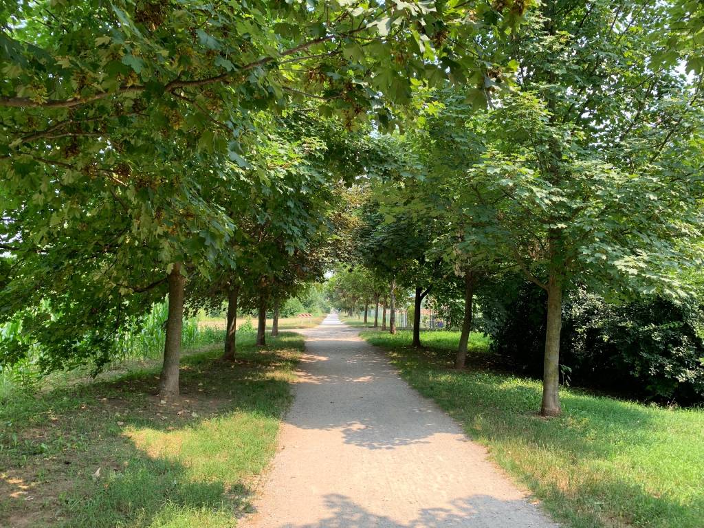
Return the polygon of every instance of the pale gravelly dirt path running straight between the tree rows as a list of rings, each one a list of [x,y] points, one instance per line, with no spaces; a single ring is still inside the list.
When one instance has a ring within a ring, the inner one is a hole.
[[[555,528],[484,448],[337,315],[306,330],[296,400],[247,528]]]

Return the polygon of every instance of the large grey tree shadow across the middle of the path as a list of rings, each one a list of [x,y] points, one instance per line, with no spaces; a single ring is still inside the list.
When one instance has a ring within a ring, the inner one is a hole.
[[[432,403],[409,407],[417,398],[396,367],[363,341],[316,336],[307,351],[296,397],[308,405],[287,416],[294,427],[337,430],[346,444],[374,450],[427,443],[437,434],[459,436],[460,429]]]

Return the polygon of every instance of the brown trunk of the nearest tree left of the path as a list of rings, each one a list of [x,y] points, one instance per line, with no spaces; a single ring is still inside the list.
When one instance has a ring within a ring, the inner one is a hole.
[[[164,363],[159,377],[159,396],[178,396],[178,366],[181,357],[181,331],[183,327],[183,301],[186,294],[186,277],[181,275],[181,264],[175,263],[168,277],[169,311],[166,319]]]

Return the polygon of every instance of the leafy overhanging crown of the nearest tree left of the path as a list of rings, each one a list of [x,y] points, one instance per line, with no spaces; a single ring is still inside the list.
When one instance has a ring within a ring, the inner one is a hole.
[[[476,7],[479,25],[460,2],[4,4],[0,241],[18,265],[1,320],[27,322],[49,370],[104,365],[114,346],[99,345],[137,324],[174,265],[192,286],[232,267],[239,218],[222,195],[256,157],[266,111],[315,101],[349,127],[393,127],[411,82],[496,75],[463,43],[510,32],[524,4]],[[61,313],[51,324],[30,317],[44,300]],[[2,348],[6,362],[27,354]]]

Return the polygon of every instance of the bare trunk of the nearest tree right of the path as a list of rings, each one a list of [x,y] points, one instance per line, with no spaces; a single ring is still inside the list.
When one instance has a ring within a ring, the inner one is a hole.
[[[548,324],[545,332],[543,365],[543,416],[558,416],[560,406],[560,331],[562,330],[562,282],[555,272],[548,279]]]

